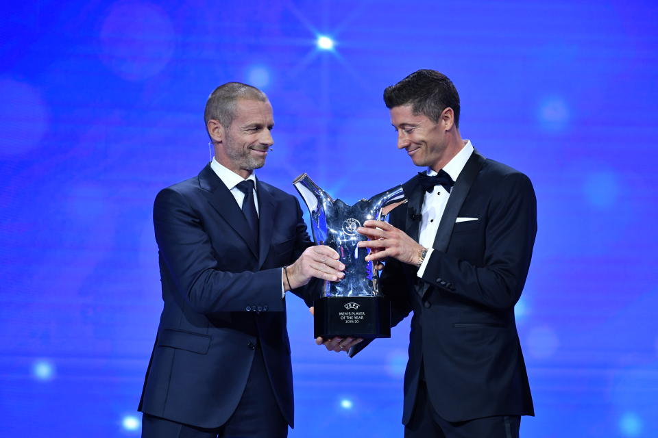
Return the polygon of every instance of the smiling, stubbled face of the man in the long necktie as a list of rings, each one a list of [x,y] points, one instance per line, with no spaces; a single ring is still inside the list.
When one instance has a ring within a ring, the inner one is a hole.
[[[208,121],[217,161],[243,178],[265,165],[269,146],[274,144],[272,106],[269,101],[238,99],[235,118],[227,127]]]

